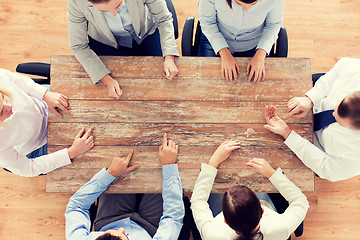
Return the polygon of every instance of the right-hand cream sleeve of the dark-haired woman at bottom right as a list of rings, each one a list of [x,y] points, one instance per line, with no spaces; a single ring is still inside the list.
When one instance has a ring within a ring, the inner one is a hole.
[[[290,236],[305,219],[309,202],[301,190],[282,173],[280,168],[269,180],[289,202],[289,207],[280,214],[280,218],[287,228],[288,236]]]

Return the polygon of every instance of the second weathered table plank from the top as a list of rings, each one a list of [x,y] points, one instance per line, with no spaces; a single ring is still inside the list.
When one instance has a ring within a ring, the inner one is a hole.
[[[312,88],[308,75],[299,79],[272,79],[257,84],[241,79],[175,78],[139,79],[115,78],[123,94],[121,100],[213,100],[213,101],[288,101],[303,96]],[[52,76],[51,90],[70,99],[113,100],[104,84],[94,85],[89,78],[62,78]],[[154,85],[156,87],[154,87]],[[300,92],[302,89],[304,92]]]

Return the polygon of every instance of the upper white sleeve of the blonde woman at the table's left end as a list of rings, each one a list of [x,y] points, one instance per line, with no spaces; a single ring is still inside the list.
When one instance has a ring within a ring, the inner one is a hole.
[[[13,73],[5,69],[0,69],[1,75],[5,75],[12,83],[18,86],[21,90],[25,91],[28,95],[42,100],[47,88],[35,83],[31,78]]]

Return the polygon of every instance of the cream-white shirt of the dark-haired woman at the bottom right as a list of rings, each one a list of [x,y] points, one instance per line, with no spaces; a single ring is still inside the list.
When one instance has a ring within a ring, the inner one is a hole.
[[[216,168],[205,163],[201,165],[201,171],[191,196],[191,210],[202,239],[233,240],[238,235],[224,222],[223,213],[219,213],[214,218],[207,203],[216,173]],[[264,213],[260,220],[260,231],[264,235],[264,240],[285,240],[304,220],[309,202],[301,190],[282,173],[280,168],[269,180],[289,202],[289,207],[284,213],[279,214],[262,205]]]

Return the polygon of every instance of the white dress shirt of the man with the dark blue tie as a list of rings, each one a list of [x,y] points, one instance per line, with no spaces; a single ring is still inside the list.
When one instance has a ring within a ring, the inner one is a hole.
[[[360,90],[360,59],[342,58],[306,93],[314,113],[334,109]],[[285,144],[321,178],[339,181],[360,174],[360,131],[330,124],[314,133],[314,144],[292,131]]]

